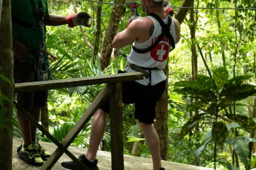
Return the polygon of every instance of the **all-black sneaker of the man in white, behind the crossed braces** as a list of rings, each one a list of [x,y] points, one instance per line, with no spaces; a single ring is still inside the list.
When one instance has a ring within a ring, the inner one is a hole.
[[[85,155],[80,155],[78,157],[78,160],[80,160],[86,167],[88,167],[90,170],[99,170],[99,167],[97,166],[98,160],[95,159],[94,162],[91,162],[86,158]],[[81,167],[79,167],[74,161],[71,162],[62,162],[61,166],[67,168],[67,169],[73,169],[73,170],[80,170]]]

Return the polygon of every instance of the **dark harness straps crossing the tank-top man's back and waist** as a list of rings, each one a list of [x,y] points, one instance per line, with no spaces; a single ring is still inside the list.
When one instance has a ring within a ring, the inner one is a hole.
[[[134,47],[132,45],[132,49],[134,50],[134,52],[136,53],[140,53],[140,54],[143,54],[143,53],[148,53],[150,52],[150,50],[153,50],[158,44],[159,42],[163,39],[164,36],[168,37],[169,38],[169,43],[170,45],[172,46],[172,48],[170,49],[170,52],[175,48],[175,42],[174,42],[174,39],[170,33],[170,27],[171,27],[171,24],[172,24],[172,18],[171,16],[167,15],[168,17],[168,22],[167,24],[164,23],[164,21],[155,13],[149,13],[148,14],[149,16],[153,16],[158,22],[159,24],[161,25],[162,27],[162,33],[161,35],[157,38],[157,40],[155,41],[155,43],[153,45],[151,45],[150,47],[146,48],[146,49],[138,49],[136,47]],[[146,68],[146,67],[140,67],[138,65],[135,65],[135,64],[131,64],[131,63],[128,63],[127,64],[129,67],[131,67],[132,70],[134,71],[138,71],[138,72],[141,72],[143,73],[144,77],[145,78],[149,78],[149,86],[151,85],[151,70],[159,70],[157,69],[157,67],[154,67],[154,68]],[[148,70],[149,73],[145,70]]]

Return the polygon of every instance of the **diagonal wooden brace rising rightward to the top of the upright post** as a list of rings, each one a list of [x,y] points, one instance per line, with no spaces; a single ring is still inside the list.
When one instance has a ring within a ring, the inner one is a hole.
[[[57,148],[52,156],[46,161],[41,170],[48,170],[53,167],[53,165],[58,161],[58,159],[63,154],[64,150],[69,147],[73,140],[77,137],[79,132],[84,128],[85,124],[90,120],[93,114],[97,111],[99,106],[102,104],[110,92],[113,90],[113,84],[107,84],[107,86],[101,90],[100,94],[93,100],[92,104],[87,108],[83,116],[79,119],[76,125],[71,129],[67,136],[61,142],[63,149]]]

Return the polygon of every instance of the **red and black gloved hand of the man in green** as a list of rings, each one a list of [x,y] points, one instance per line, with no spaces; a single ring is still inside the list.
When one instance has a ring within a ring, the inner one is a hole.
[[[91,16],[86,12],[79,12],[77,14],[70,14],[67,16],[68,26],[73,28],[77,25],[83,25],[84,27],[91,27],[89,24]]]

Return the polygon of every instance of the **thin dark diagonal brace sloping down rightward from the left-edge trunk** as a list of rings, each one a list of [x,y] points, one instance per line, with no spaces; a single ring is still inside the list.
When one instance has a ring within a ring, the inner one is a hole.
[[[64,147],[61,145],[61,143],[59,141],[57,141],[49,132],[47,132],[43,126],[41,126],[37,121],[35,121],[35,119],[30,116],[21,106],[18,105],[18,103],[16,101],[13,101],[15,107],[21,112],[21,114],[23,116],[25,116],[33,125],[35,125],[39,130],[41,130],[49,139],[52,140],[53,143],[55,143],[55,145],[57,145],[60,149],[64,150]],[[79,162],[79,160],[73,155],[71,154],[71,152],[69,152],[68,150],[64,150],[65,153],[71,158],[73,159],[78,165],[81,166],[81,168],[83,170],[90,170],[89,168],[87,168],[86,166],[84,166],[84,164],[82,164],[81,162]]]

